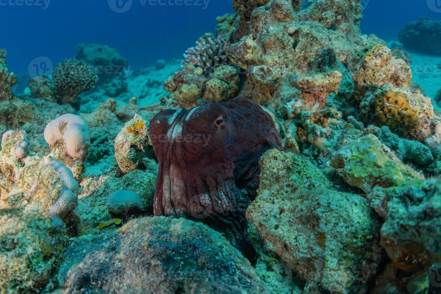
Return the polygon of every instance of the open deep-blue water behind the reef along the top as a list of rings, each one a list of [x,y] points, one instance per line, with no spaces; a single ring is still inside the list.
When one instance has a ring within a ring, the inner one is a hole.
[[[118,10],[116,0],[109,1]],[[180,58],[199,36],[214,32],[216,16],[234,12],[231,0],[172,0],[194,4],[181,6],[169,5],[170,0],[159,0],[166,5],[158,0],[118,1],[123,10],[130,5],[123,1],[132,1],[130,9],[117,13],[108,0],[0,0],[0,47],[7,49],[10,70],[24,74],[39,56],[59,63],[75,56],[79,43],[116,48],[132,68],[153,65],[158,59]],[[363,33],[388,40],[408,21],[441,19],[426,0],[362,1]]]

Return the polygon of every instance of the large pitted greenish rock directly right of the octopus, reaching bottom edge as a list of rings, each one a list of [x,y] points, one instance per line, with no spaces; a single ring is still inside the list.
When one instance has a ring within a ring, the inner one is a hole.
[[[269,150],[260,164],[258,197],[247,209],[257,268],[277,257],[304,281],[305,291],[366,291],[381,260],[378,223],[366,198],[335,190],[293,153]],[[286,287],[269,283],[276,293]]]

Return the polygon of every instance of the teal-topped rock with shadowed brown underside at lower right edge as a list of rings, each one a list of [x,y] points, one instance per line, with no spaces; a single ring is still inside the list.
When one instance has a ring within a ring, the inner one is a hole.
[[[374,189],[368,197],[385,219],[380,245],[392,264],[413,273],[424,271],[441,254],[441,181],[408,182],[401,187]]]

